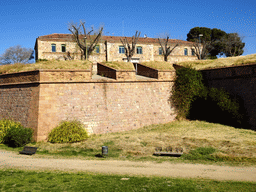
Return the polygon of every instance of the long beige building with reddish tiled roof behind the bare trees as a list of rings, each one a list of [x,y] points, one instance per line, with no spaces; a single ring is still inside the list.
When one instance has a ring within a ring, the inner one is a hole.
[[[82,38],[82,37],[81,37]],[[126,61],[124,47],[118,36],[102,36],[94,52],[89,56],[92,62]],[[131,42],[131,37],[127,37]],[[169,40],[170,46],[178,47],[168,57],[168,62],[197,60],[192,49],[192,43],[183,40]],[[36,60],[67,59],[70,55],[74,59],[81,59],[81,51],[72,38],[72,34],[51,34],[39,36],[35,44]],[[157,38],[139,38],[132,62],[163,61],[161,46]]]

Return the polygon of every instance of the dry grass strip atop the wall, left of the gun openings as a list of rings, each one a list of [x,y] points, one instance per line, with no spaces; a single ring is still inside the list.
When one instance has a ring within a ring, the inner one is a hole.
[[[72,60],[72,61],[39,61],[33,64],[8,64],[0,66],[0,74],[14,73],[21,71],[32,71],[38,69],[91,69],[90,61]]]

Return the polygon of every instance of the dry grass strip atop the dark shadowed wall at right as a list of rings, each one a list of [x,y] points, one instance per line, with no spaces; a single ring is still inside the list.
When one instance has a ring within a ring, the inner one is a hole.
[[[214,59],[214,60],[184,61],[184,62],[179,62],[177,64],[185,67],[192,66],[194,69],[200,70],[200,69],[237,66],[237,65],[251,64],[251,63],[256,63],[256,54],[238,56],[238,57],[220,58],[220,59]]]

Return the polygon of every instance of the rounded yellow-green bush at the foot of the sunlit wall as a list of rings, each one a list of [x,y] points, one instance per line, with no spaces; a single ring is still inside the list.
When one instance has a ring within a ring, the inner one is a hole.
[[[86,138],[88,134],[79,121],[63,121],[48,135],[51,143],[74,143]]]

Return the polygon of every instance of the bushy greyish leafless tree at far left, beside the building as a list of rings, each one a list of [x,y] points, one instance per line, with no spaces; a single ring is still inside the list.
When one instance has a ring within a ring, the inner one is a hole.
[[[3,64],[28,63],[33,57],[33,49],[23,48],[20,45],[9,47],[0,57]]]

